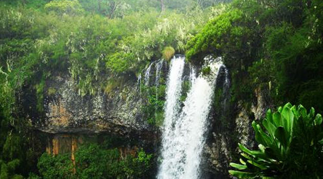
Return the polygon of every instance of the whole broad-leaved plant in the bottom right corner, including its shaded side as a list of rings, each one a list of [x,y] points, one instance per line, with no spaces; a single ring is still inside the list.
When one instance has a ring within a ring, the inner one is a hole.
[[[275,113],[269,109],[262,122],[263,130],[252,123],[259,150],[239,144],[241,164],[230,163],[237,170],[229,173],[238,178],[316,178],[321,176],[323,140],[322,117],[299,105],[287,103]]]

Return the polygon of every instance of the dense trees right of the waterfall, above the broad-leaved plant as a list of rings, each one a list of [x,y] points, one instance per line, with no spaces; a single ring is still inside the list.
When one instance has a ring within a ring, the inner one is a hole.
[[[253,88],[322,110],[321,1],[234,1],[188,42],[187,57],[222,56],[232,71],[234,100]]]

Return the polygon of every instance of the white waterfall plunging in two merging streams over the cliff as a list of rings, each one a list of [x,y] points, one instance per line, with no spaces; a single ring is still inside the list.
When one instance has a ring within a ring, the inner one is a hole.
[[[209,59],[210,60],[210,59]],[[212,61],[212,60],[211,60]],[[176,63],[177,62],[177,63]],[[172,60],[167,83],[167,98],[163,138],[161,141],[161,164],[158,179],[197,179],[200,177],[201,153],[205,144],[207,118],[211,108],[213,92],[219,68],[222,63],[212,62],[211,77],[195,77],[191,67],[191,89],[180,111],[178,100],[181,82],[179,60]],[[184,62],[183,62],[184,64]],[[180,114],[178,114],[180,111]]]

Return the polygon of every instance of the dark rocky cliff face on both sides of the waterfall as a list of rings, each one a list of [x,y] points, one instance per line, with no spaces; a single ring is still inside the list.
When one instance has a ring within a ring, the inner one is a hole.
[[[46,144],[48,153],[73,152],[82,144],[83,136],[96,135],[116,135],[132,141],[129,145],[115,146],[124,154],[145,146],[158,153],[160,131],[145,119],[142,106],[146,104],[147,96],[140,91],[140,86],[145,83],[155,85],[156,66],[151,65],[148,81],[141,81],[133,74],[126,80],[116,79],[123,80],[122,85],[114,87],[109,93],[98,88],[95,95],[84,97],[78,94],[77,85],[70,75],[56,75],[46,81],[42,113],[35,113],[36,95],[31,87],[26,86],[22,97],[24,115],[34,129],[49,133]],[[158,78],[165,80],[168,68],[167,62],[162,62],[159,70],[163,73]],[[184,78],[189,75],[190,68],[191,65],[185,65]],[[142,74],[146,72],[144,70]],[[254,91],[255,100],[249,106],[243,101],[231,102],[230,74],[223,68],[219,75],[203,154],[205,178],[229,178],[229,163],[238,157],[237,143],[255,145],[251,122],[262,118],[272,107],[268,93],[260,88]]]

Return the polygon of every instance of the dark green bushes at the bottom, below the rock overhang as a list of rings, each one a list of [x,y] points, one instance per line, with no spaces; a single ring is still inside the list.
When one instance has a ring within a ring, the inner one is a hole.
[[[38,161],[39,173],[46,178],[147,178],[152,154],[140,149],[136,156],[120,156],[117,148],[83,145],[74,153],[76,173],[69,154],[44,153]],[[36,177],[36,176],[33,176]]]

